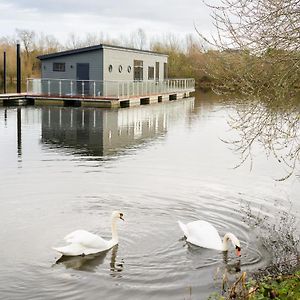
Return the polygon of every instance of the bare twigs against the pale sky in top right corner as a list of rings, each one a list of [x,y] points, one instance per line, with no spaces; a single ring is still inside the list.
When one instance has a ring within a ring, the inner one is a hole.
[[[227,48],[264,52],[299,50],[299,0],[220,0],[207,4],[218,35],[206,41]]]

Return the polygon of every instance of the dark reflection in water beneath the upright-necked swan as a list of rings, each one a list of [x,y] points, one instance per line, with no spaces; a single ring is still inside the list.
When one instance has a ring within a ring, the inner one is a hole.
[[[110,258],[110,275],[112,277],[120,276],[120,273],[124,268],[124,260],[117,261],[118,245],[114,246],[110,250],[90,254],[85,256],[61,256],[55,263],[63,264],[67,269],[72,268],[74,270],[96,272],[99,265],[105,262],[105,258],[108,253],[111,252]]]

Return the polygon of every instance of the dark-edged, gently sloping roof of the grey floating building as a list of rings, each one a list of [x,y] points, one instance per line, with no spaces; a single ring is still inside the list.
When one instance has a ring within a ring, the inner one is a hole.
[[[72,50],[66,50],[66,51],[60,51],[60,52],[39,55],[39,56],[37,56],[37,58],[40,60],[43,60],[43,59],[48,59],[48,58],[54,58],[54,57],[65,56],[65,55],[73,55],[73,54],[89,52],[89,51],[94,51],[94,50],[100,50],[100,49],[117,49],[117,50],[124,50],[124,51],[130,51],[130,52],[139,52],[139,53],[146,53],[146,54],[168,56],[168,54],[159,53],[159,52],[155,52],[155,51],[140,50],[140,49],[135,49],[135,48],[127,48],[127,47],[113,46],[113,45],[107,45],[107,44],[99,44],[99,45],[94,45],[94,46],[89,46],[89,47],[83,47],[83,48],[78,48],[78,49],[72,49]]]

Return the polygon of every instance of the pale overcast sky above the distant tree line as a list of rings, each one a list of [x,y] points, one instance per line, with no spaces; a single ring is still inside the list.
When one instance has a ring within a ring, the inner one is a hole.
[[[211,2],[211,1],[210,1]],[[0,0],[0,37],[15,29],[51,34],[64,41],[102,32],[112,38],[142,28],[147,37],[212,32],[210,11],[202,0]]]

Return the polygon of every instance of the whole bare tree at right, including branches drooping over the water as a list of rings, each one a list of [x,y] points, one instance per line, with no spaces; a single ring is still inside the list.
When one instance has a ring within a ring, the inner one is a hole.
[[[300,160],[300,1],[220,1],[208,5],[217,34],[198,33],[214,49],[205,65],[213,88],[247,95],[229,122],[239,138],[227,142],[241,163],[251,159],[253,145],[263,146],[288,178]]]

